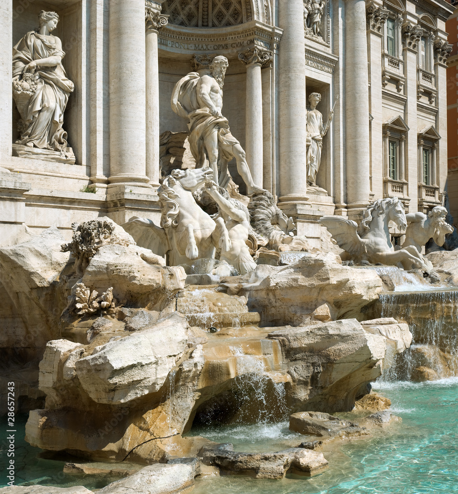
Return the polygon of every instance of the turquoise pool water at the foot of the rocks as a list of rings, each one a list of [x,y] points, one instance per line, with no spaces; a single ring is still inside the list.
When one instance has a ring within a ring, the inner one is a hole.
[[[458,377],[441,381],[377,383],[374,388],[392,401],[402,422],[369,440],[344,444],[326,453],[330,467],[304,479],[262,481],[245,477],[197,479],[194,494],[437,494],[458,493]],[[345,414],[345,416],[348,416]],[[4,423],[1,423],[5,430]],[[18,429],[19,431],[19,429]],[[199,428],[192,434],[231,442],[238,451],[278,451],[297,446],[303,436],[287,423]],[[69,487],[103,487],[102,478],[62,473],[64,461],[38,458],[16,435],[16,485],[32,482]],[[0,487],[6,484],[5,447],[1,444]]]

